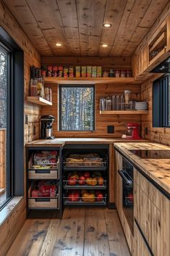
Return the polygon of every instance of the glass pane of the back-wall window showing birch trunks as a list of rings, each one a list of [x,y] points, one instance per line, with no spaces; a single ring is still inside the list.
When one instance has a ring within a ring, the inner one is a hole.
[[[94,130],[94,86],[59,86],[59,130]]]

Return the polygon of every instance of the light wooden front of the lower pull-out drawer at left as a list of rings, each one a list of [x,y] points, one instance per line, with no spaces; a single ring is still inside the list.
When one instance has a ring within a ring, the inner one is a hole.
[[[29,198],[28,208],[30,209],[58,209],[59,197],[56,198]]]

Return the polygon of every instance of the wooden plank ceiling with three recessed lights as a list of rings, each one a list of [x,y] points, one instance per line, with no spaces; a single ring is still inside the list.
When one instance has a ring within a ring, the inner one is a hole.
[[[4,0],[41,55],[101,57],[131,56],[168,2]]]

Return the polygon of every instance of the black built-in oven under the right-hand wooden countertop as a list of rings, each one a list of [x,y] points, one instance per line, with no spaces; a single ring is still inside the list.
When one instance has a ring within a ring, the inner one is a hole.
[[[122,170],[119,170],[119,175],[122,177],[122,208],[133,234],[133,166],[124,157],[122,157]]]

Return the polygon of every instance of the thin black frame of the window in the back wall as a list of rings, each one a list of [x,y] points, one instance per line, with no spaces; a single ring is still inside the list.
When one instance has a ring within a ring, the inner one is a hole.
[[[93,88],[93,130],[62,130],[61,129],[61,88],[63,87],[79,87],[79,88]],[[95,84],[59,84],[59,88],[58,88],[58,129],[59,131],[64,131],[64,132],[69,132],[69,131],[73,131],[73,132],[93,132],[95,131]]]

